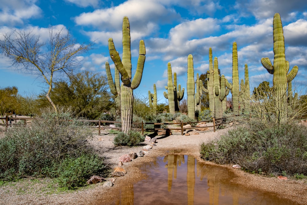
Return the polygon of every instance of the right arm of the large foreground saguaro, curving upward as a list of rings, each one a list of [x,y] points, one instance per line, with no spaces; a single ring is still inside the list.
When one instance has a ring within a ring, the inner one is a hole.
[[[141,40],[139,56],[138,56],[138,65],[133,80],[131,82],[131,89],[136,89],[140,85],[144,69],[145,58],[146,58],[145,55],[146,55],[145,44],[144,41]]]

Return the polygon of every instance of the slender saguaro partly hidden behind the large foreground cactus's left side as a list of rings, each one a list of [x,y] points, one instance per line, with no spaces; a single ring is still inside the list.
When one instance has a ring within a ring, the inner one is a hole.
[[[115,66],[115,81],[113,82],[110,65],[109,62],[106,62],[106,72],[107,72],[107,79],[109,83],[109,87],[111,90],[111,93],[114,95],[114,101],[116,106],[116,112],[115,115],[120,115],[120,84],[119,84],[119,71]]]

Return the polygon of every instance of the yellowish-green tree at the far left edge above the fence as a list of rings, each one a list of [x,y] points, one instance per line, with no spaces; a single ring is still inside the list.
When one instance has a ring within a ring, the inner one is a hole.
[[[0,89],[0,114],[4,116],[7,112],[13,112],[17,106],[17,87],[6,87]]]

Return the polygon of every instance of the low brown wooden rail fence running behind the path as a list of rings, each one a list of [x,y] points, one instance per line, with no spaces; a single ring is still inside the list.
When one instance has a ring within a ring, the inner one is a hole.
[[[24,121],[23,123],[18,123],[17,124],[17,120],[19,121]],[[26,125],[26,121],[28,120],[41,120],[41,118],[29,118],[29,117],[9,117],[9,116],[5,116],[5,117],[0,117],[0,121],[4,122],[4,124],[0,124],[0,126],[5,126],[5,130],[7,130],[8,127],[11,127],[11,126],[24,126]],[[110,120],[85,120],[87,122],[91,122],[91,123],[98,123],[98,127],[95,126],[96,128],[98,128],[98,134],[100,136],[100,130],[102,128],[113,128],[113,129],[121,129],[120,127],[116,127],[116,126],[113,126],[113,127],[110,127],[110,126],[103,126],[103,123],[108,123],[108,124],[121,124],[121,122],[119,121],[110,121]],[[195,123],[201,123],[201,122],[212,122],[213,125],[210,125],[210,126],[200,126],[200,127],[191,127],[191,128],[184,128],[184,125],[186,124],[195,124]],[[216,122],[218,122],[216,124]],[[165,123],[151,123],[151,122],[141,122],[141,123],[132,123],[133,125],[140,125],[141,128],[133,128],[133,129],[137,129],[137,130],[141,130],[142,131],[142,135],[144,134],[144,131],[146,130],[154,130],[155,132],[156,131],[159,131],[159,130],[180,130],[181,131],[181,135],[183,135],[183,132],[186,130],[186,129],[195,129],[195,128],[210,128],[210,127],[213,127],[213,132],[216,131],[216,127],[219,126],[219,125],[222,125],[224,124],[223,123],[223,118],[219,118],[219,119],[215,119],[213,118],[212,120],[207,120],[207,121],[195,121],[195,122],[165,122]],[[180,125],[180,128],[144,128],[144,125],[146,124],[153,124],[153,125],[171,125],[171,124],[177,124],[177,125]],[[93,127],[93,126],[91,126]]]

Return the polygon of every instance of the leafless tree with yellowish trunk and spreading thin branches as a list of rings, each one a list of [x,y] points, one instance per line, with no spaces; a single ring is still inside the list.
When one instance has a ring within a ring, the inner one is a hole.
[[[46,97],[55,112],[57,108],[49,97],[53,81],[64,73],[71,74],[80,63],[77,55],[88,51],[91,45],[77,43],[64,28],[57,32],[51,28],[49,42],[41,42],[39,35],[20,30],[4,34],[0,41],[0,49],[12,65],[45,79],[49,86]]]

